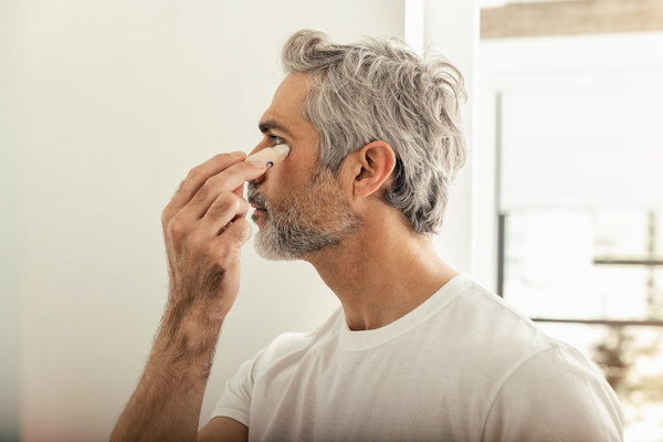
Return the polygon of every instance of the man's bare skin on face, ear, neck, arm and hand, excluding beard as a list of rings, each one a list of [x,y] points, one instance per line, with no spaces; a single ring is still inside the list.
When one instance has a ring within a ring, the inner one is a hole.
[[[199,434],[197,427],[221,326],[239,293],[240,250],[251,235],[242,187],[254,181],[269,201],[278,203],[308,186],[319,139],[301,115],[309,87],[306,75],[287,76],[261,118],[263,139],[253,151],[280,137],[291,147],[285,160],[266,170],[243,162],[243,154],[215,156],[191,170],[164,210],[170,296],[143,378],[112,441],[248,439],[248,428],[229,418],[212,419]],[[333,186],[361,227],[338,245],[301,256],[336,293],[354,330],[402,317],[456,274],[429,239],[383,202],[394,164],[385,141],[350,154]],[[256,210],[253,218],[264,227],[264,211]]]

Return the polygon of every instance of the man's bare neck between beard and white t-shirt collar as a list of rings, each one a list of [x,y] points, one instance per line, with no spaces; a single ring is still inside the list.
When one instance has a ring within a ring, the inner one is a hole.
[[[404,227],[364,225],[309,261],[341,302],[352,330],[382,327],[417,308],[457,274],[431,240]]]

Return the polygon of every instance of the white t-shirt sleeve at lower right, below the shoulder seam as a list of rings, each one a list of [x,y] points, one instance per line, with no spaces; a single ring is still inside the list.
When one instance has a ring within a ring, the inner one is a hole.
[[[488,412],[484,442],[623,440],[622,411],[608,382],[580,351],[558,345],[520,364]]]

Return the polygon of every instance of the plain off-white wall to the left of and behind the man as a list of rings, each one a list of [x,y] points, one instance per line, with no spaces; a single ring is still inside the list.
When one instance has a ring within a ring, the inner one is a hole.
[[[3,340],[3,386],[20,396],[23,440],[104,440],[140,375],[166,301],[159,215],[180,180],[218,151],[253,147],[281,78],[281,45],[293,31],[319,29],[340,41],[402,36],[404,4],[17,4],[0,11],[1,24],[13,23],[2,27],[11,32],[3,55],[11,63],[0,78],[13,97],[0,112],[14,117],[0,141],[10,147],[2,164],[15,171],[7,176],[9,215],[0,220],[13,238],[3,248],[13,280],[3,278],[0,323],[17,328],[20,313],[21,349],[17,338]],[[448,25],[445,48],[463,53],[453,35],[464,35],[465,23]],[[463,223],[469,212],[459,217]],[[202,420],[241,361],[280,332],[315,327],[336,305],[307,264],[267,263],[246,248],[242,293],[219,344]],[[3,400],[10,410],[11,396]],[[15,413],[2,409],[0,424],[9,434]]]

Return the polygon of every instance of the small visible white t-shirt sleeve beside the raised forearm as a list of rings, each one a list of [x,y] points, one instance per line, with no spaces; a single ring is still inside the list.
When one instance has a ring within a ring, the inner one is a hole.
[[[255,365],[260,352],[240,366],[238,372],[225,383],[210,419],[227,417],[249,427],[251,415],[251,397],[254,385]]]

